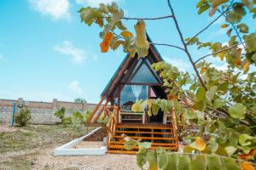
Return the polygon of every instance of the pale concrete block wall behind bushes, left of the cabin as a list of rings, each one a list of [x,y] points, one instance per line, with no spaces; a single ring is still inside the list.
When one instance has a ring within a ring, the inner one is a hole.
[[[66,109],[67,116],[71,115],[73,111],[86,111],[88,109],[93,110],[96,104],[84,103],[74,103],[58,101],[53,99],[50,102],[38,102],[38,101],[25,101],[20,98],[17,100],[11,99],[0,99],[0,122],[10,122],[12,113],[14,111],[14,103],[17,105],[17,111],[20,111],[19,106],[26,105],[27,108],[31,110],[32,119],[31,123],[34,124],[55,124],[60,122],[59,118],[54,116],[55,111],[64,107]]]

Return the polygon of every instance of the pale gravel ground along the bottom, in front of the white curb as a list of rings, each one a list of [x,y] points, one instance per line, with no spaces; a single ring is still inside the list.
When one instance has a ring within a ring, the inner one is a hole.
[[[54,156],[54,149],[28,150],[15,153],[7,153],[0,156],[0,159],[8,161],[22,156],[31,161],[31,169],[78,169],[78,170],[121,170],[121,169],[139,169],[136,163],[136,156],[131,155],[113,155],[105,156]],[[1,165],[0,165],[1,167]],[[8,167],[0,169],[9,170]]]

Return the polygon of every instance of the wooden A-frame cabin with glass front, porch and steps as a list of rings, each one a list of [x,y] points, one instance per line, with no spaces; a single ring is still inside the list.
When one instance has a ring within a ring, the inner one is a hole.
[[[148,42],[151,42],[149,37]],[[150,44],[148,56],[144,58],[138,59],[137,55],[131,58],[126,55],[103,90],[102,99],[87,122],[96,122],[99,118],[108,120],[108,153],[134,154],[137,152],[138,148],[125,150],[122,134],[131,139],[151,142],[151,149],[162,146],[166,150],[177,150],[177,124],[174,109],[166,115],[163,111],[159,111],[157,116],[148,116],[146,110],[131,111],[131,106],[137,99],[166,99],[163,81],[158,72],[150,67],[159,61],[163,59],[153,44]]]

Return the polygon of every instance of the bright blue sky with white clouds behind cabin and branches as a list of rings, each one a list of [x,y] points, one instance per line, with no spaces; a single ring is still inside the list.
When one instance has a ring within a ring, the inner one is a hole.
[[[77,11],[113,0],[1,0],[0,2],[0,99],[73,101],[82,97],[96,103],[113,72],[124,59],[121,49],[100,52],[100,28],[85,26]],[[192,37],[213,20],[197,14],[197,0],[172,1],[184,37]],[[126,16],[154,17],[170,14],[166,0],[116,0]],[[253,26],[253,20],[247,20]],[[226,42],[224,19],[218,20],[203,41]],[[135,21],[125,21],[133,31]],[[181,45],[172,19],[146,21],[153,42]],[[214,31],[214,33],[212,33]],[[134,32],[134,31],[133,31]],[[209,33],[210,32],[210,33]],[[178,49],[157,47],[167,62],[191,71],[186,55]],[[190,48],[194,59],[207,54]],[[210,59],[218,67],[224,63]]]

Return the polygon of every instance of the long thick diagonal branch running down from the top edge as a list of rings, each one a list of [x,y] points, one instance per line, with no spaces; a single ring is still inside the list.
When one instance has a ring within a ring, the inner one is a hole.
[[[188,55],[188,57],[189,57],[189,61],[190,61],[191,65],[193,66],[194,70],[195,70],[196,76],[198,77],[199,81],[201,82],[201,86],[202,86],[203,88],[205,88],[205,90],[207,91],[207,87],[206,87],[206,85],[205,85],[205,83],[203,82],[203,80],[202,80],[202,78],[201,78],[199,72],[197,71],[197,69],[196,69],[196,67],[195,67],[195,64],[194,64],[194,61],[193,61],[193,59],[192,59],[192,57],[191,57],[191,54],[189,54],[189,49],[188,49],[188,47],[187,47],[186,42],[184,41],[183,34],[182,34],[182,32],[181,32],[181,30],[180,30],[178,24],[177,24],[177,19],[176,19],[176,17],[175,17],[175,14],[174,14],[172,5],[171,5],[171,3],[170,3],[170,0],[167,0],[167,2],[168,2],[169,8],[171,9],[171,12],[172,12],[172,19],[174,20],[175,26],[176,26],[176,28],[177,28],[177,32],[178,32],[178,34],[179,34],[179,37],[180,37],[180,39],[181,39],[181,42],[183,42],[184,51],[185,51],[185,53],[186,53],[186,54]]]

